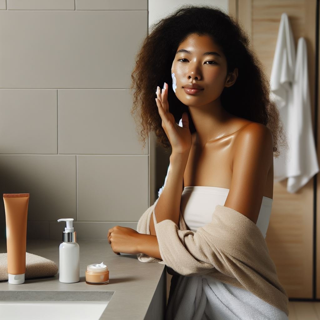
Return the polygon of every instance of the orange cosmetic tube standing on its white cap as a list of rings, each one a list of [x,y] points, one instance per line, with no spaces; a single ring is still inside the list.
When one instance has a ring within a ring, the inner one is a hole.
[[[29,193],[3,194],[10,284],[25,280],[29,197]]]

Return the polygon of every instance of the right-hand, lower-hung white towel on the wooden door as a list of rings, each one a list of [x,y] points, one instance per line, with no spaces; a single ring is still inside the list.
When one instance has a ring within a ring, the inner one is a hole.
[[[312,131],[307,44],[303,37],[298,40],[292,93],[293,99],[288,120],[288,132],[293,138],[290,146],[292,158],[288,163],[287,181],[287,190],[290,193],[302,188],[319,172]]]

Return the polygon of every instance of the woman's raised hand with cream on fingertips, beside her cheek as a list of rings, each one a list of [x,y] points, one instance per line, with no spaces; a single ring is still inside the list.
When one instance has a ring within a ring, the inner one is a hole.
[[[165,87],[160,93],[160,87],[157,87],[156,104],[158,106],[159,115],[162,119],[162,127],[167,135],[172,153],[189,154],[192,137],[189,130],[189,119],[187,112],[182,114],[182,127],[174,120],[174,116],[169,112],[168,103],[168,84],[164,83]]]

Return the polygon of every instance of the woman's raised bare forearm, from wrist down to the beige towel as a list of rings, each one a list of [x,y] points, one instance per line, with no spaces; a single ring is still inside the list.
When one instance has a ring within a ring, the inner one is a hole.
[[[155,206],[157,223],[169,219],[179,226],[180,203],[182,194],[183,175],[189,154],[172,153],[167,181]],[[150,218],[150,234],[156,236],[153,213]]]

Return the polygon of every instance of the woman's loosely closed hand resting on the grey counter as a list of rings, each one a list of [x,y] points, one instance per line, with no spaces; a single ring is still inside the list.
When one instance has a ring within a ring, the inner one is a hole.
[[[116,254],[138,254],[138,242],[140,233],[132,228],[115,226],[108,230],[108,242]]]

